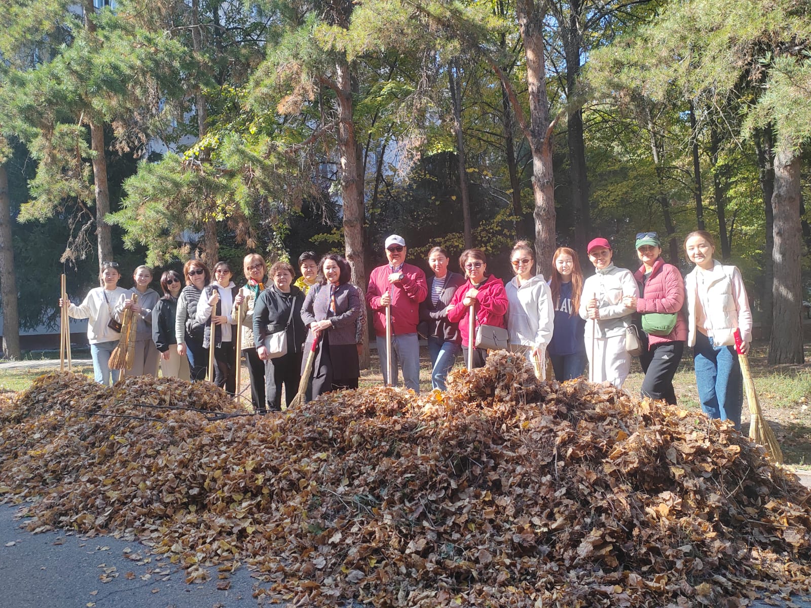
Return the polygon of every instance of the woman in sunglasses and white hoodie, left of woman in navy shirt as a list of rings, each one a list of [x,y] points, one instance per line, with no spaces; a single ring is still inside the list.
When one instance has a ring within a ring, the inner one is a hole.
[[[513,280],[506,286],[509,349],[532,362],[535,375],[546,378],[547,344],[554,329],[551,292],[543,274],[534,274],[535,254],[530,243],[519,241],[510,253]]]

